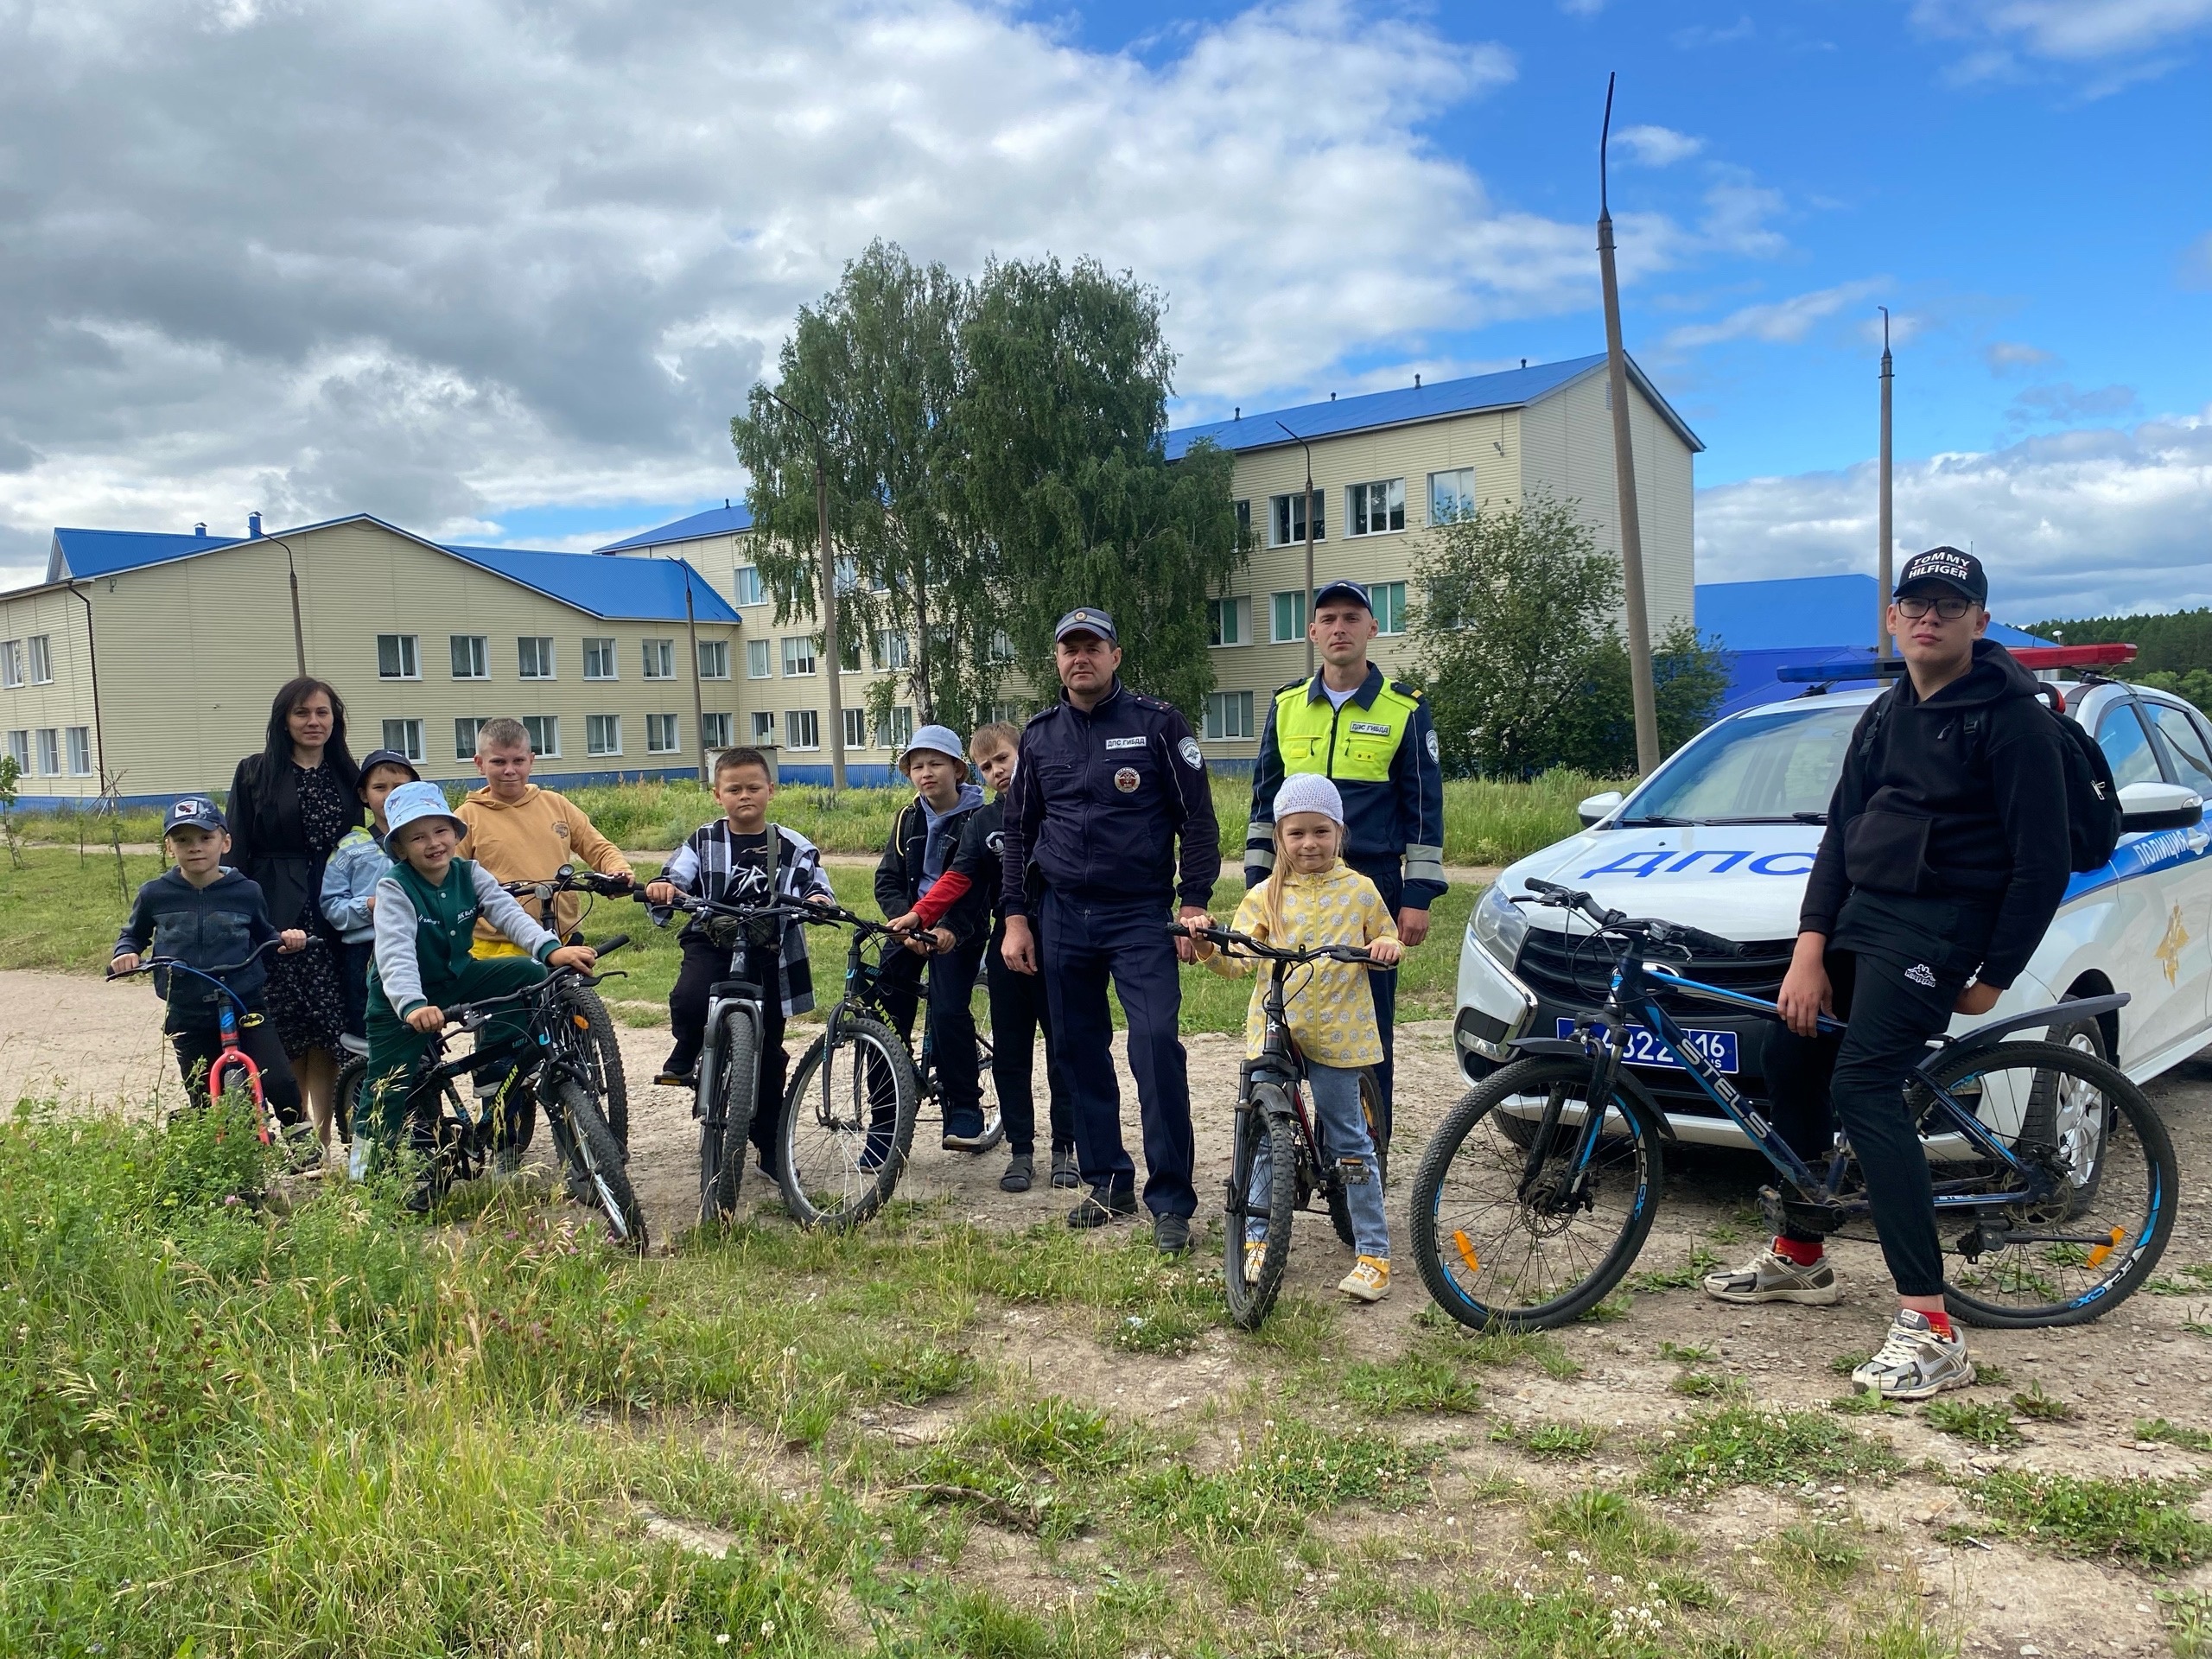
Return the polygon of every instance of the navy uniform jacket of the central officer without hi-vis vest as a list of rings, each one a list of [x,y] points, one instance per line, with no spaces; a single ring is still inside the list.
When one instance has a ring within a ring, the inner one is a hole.
[[[1214,794],[1190,721],[1172,703],[1117,679],[1086,714],[1062,692],[1022,730],[1020,757],[1000,854],[1006,916],[1029,916],[1031,863],[1064,898],[1212,902],[1221,874]]]

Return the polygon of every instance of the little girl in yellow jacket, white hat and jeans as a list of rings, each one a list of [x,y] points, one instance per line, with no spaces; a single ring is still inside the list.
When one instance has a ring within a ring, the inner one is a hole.
[[[1294,772],[1274,796],[1274,874],[1245,894],[1234,931],[1292,949],[1314,945],[1365,945],[1383,967],[1402,956],[1398,925],[1383,894],[1360,872],[1343,863],[1345,803],[1336,785],[1318,772]],[[1214,973],[1241,978],[1256,962],[1237,960],[1199,942],[1199,956]],[[1389,1230],[1383,1223],[1383,1170],[1376,1164],[1367,1115],[1360,1110],[1360,1068],[1383,1060],[1376,1031],[1374,991],[1367,969],[1354,962],[1314,962],[1290,982],[1290,1035],[1305,1055],[1305,1082],[1314,1117],[1329,1155],[1365,1164],[1365,1177],[1345,1183],[1352,1208],[1352,1241],[1358,1261],[1338,1285],[1347,1296],[1378,1303],[1389,1296]],[[1265,984],[1252,987],[1245,1015],[1245,1053],[1259,1060],[1267,1033]],[[1245,1276],[1259,1272],[1267,1245],[1267,1144],[1252,1164],[1252,1212],[1245,1221]]]

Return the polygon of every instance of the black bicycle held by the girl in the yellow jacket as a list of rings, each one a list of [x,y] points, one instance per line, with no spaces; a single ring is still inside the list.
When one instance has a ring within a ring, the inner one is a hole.
[[[1230,1318],[1243,1329],[1259,1329],[1283,1290],[1283,1270],[1290,1265],[1290,1219],[1296,1210],[1312,1206],[1314,1192],[1323,1194],[1336,1237],[1349,1250],[1352,1199],[1345,1192],[1349,1181],[1365,1181],[1367,1166],[1360,1159],[1332,1159],[1321,1144],[1312,1115],[1305,1110],[1305,1060],[1290,1035],[1287,980],[1294,967],[1307,962],[1356,962],[1380,967],[1365,949],[1352,945],[1316,945],[1310,949],[1287,949],[1267,945],[1250,933],[1234,933],[1228,927],[1206,922],[1170,922],[1170,933],[1203,938],[1214,949],[1270,962],[1267,993],[1261,1000],[1265,1037],[1256,1060],[1245,1060],[1237,1071],[1237,1126],[1230,1150],[1230,1179],[1225,1188],[1225,1234],[1221,1279],[1228,1292]],[[1383,1121],[1383,1091],[1374,1071],[1360,1071],[1360,1110],[1367,1117],[1367,1137],[1376,1148],[1376,1172],[1389,1181],[1389,1150],[1383,1146],[1378,1126]],[[1267,1203],[1261,1219],[1267,1223],[1267,1248],[1261,1252],[1259,1272],[1245,1274],[1245,1225],[1256,1214],[1252,1208],[1252,1168],[1261,1146],[1267,1148]]]

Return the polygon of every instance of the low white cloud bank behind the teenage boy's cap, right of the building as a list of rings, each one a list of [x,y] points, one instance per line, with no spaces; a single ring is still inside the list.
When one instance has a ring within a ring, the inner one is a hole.
[[[2015,622],[2212,604],[2212,407],[1900,462],[1896,535],[1971,542]],[[1871,571],[1874,542],[1871,460],[1697,498],[1701,582]]]

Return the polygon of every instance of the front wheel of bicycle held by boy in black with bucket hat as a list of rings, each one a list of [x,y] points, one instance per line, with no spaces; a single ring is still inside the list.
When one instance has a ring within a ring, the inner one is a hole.
[[[792,1219],[856,1228],[876,1214],[914,1150],[914,1060],[887,1024],[843,1015],[816,1037],[792,1073],[776,1137]]]

